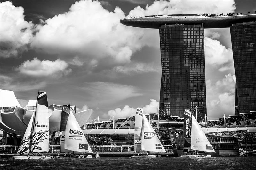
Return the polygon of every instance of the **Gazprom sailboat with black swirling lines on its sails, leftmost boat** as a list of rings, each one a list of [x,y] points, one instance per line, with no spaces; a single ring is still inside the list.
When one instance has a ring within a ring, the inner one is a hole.
[[[14,159],[51,159],[52,156],[34,156],[35,152],[49,152],[49,119],[46,92],[38,92],[36,110],[32,114],[28,127]]]

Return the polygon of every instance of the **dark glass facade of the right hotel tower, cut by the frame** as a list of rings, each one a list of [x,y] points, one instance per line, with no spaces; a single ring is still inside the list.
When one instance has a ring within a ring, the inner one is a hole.
[[[256,22],[232,24],[236,94],[235,114],[256,110]]]

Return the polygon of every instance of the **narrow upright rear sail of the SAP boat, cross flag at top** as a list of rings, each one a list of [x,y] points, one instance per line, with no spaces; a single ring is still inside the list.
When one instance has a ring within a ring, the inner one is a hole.
[[[135,125],[134,125],[134,152],[141,151],[141,137],[142,137],[142,120],[143,111],[141,108],[136,110]]]

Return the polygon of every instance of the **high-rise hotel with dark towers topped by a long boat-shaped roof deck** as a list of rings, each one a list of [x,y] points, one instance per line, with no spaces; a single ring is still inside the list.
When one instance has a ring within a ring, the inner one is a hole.
[[[168,15],[125,18],[127,26],[159,29],[162,78],[160,110],[183,117],[198,106],[206,115],[204,29],[230,28],[236,94],[235,114],[256,110],[256,14],[206,17],[169,10]]]

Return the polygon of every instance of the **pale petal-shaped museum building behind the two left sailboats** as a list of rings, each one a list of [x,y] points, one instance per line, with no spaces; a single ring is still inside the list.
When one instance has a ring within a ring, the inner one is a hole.
[[[71,107],[76,110],[76,106]],[[62,105],[52,104],[48,108],[49,131],[54,136],[56,132],[60,131]],[[0,89],[0,109],[0,130],[3,131],[0,145],[7,144],[7,139],[10,136],[14,138],[13,144],[17,145],[17,138],[19,140],[24,135],[29,120],[36,109],[36,100],[29,100],[28,104],[22,107],[13,91]],[[92,109],[88,109],[74,114],[80,126],[84,126],[92,115],[92,111]]]

